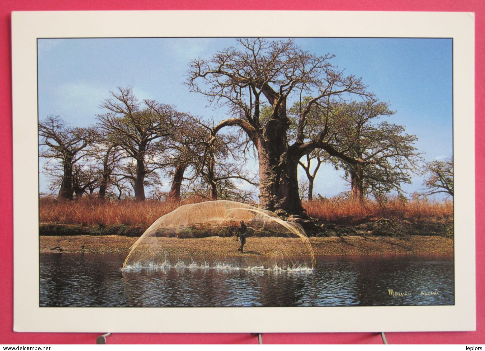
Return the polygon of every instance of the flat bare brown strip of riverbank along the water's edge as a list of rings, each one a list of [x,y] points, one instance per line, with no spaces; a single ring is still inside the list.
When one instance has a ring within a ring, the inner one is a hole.
[[[157,238],[162,247],[173,250],[194,251],[199,255],[217,255],[234,248],[234,255],[241,255],[236,249],[234,238],[208,237],[200,239]],[[244,250],[248,253],[270,256],[273,252],[275,237],[249,237]],[[136,241],[133,237],[118,235],[77,235],[41,236],[41,252],[63,253],[114,253],[128,254]],[[392,237],[312,237],[310,238],[315,255],[386,255],[386,254],[453,254],[453,239],[438,236],[409,236],[405,239]],[[307,254],[300,252],[302,245],[295,245],[292,255]]]

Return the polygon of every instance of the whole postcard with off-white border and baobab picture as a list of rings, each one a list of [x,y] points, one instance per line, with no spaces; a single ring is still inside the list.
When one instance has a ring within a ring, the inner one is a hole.
[[[473,14],[16,12],[12,47],[15,331],[475,330]]]

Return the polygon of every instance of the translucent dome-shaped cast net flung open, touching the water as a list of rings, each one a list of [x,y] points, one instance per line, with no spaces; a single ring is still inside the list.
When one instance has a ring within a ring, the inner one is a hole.
[[[239,230],[241,221],[247,229]],[[247,233],[243,251],[239,232]],[[298,223],[235,201],[183,205],[158,218],[133,244],[123,269],[311,270],[310,241]]]

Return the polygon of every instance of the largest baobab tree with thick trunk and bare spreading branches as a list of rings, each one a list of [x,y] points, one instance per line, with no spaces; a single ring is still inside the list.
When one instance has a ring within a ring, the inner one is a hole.
[[[210,103],[229,107],[232,117],[217,124],[213,135],[236,126],[258,150],[259,206],[301,214],[297,167],[304,155],[323,149],[351,164],[363,162],[329,143],[329,125],[325,121],[318,133],[309,137],[309,112],[313,106],[328,108],[331,99],[349,95],[368,98],[371,94],[360,79],[332,67],[330,54],[310,54],[292,40],[237,40],[238,48],[222,50],[208,61],[192,61],[187,84],[191,91],[206,95]],[[290,145],[287,103],[291,98],[299,99],[300,109]],[[260,118],[265,103],[272,110],[267,120]]]

